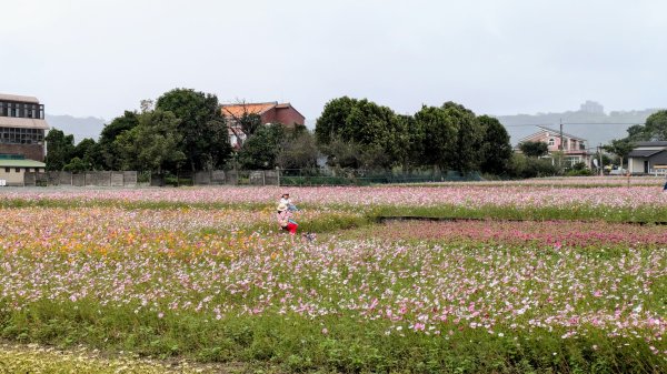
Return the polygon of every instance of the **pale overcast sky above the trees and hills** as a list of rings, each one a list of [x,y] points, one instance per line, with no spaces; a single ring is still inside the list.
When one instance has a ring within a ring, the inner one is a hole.
[[[110,120],[175,88],[398,113],[667,107],[667,1],[0,0],[0,92]]]

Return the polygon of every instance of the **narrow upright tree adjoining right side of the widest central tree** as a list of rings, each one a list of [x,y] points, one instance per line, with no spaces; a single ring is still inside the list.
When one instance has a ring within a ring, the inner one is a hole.
[[[442,108],[421,107],[415,121],[424,131],[422,164],[440,170],[454,166],[458,128]]]

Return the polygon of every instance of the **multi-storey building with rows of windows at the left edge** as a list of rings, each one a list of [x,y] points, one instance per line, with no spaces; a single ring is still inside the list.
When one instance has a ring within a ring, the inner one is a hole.
[[[0,93],[0,154],[44,161],[44,105],[37,98]]]

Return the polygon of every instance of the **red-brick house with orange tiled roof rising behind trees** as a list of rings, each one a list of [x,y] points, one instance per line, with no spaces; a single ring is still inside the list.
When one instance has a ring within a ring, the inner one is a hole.
[[[282,123],[288,129],[293,129],[296,125],[305,125],[306,123],[306,118],[289,102],[278,103],[277,101],[272,101],[223,104],[221,111],[227,121],[229,142],[237,149],[241,146],[247,138],[247,134],[243,133],[239,124],[239,121],[245,115],[257,114],[261,124]]]

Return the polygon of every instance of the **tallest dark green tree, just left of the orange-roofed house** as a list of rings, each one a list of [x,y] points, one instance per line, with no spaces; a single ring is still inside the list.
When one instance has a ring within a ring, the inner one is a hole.
[[[218,98],[190,89],[162,94],[156,110],[172,112],[179,119],[179,149],[192,170],[221,168],[231,155],[228,130]]]

